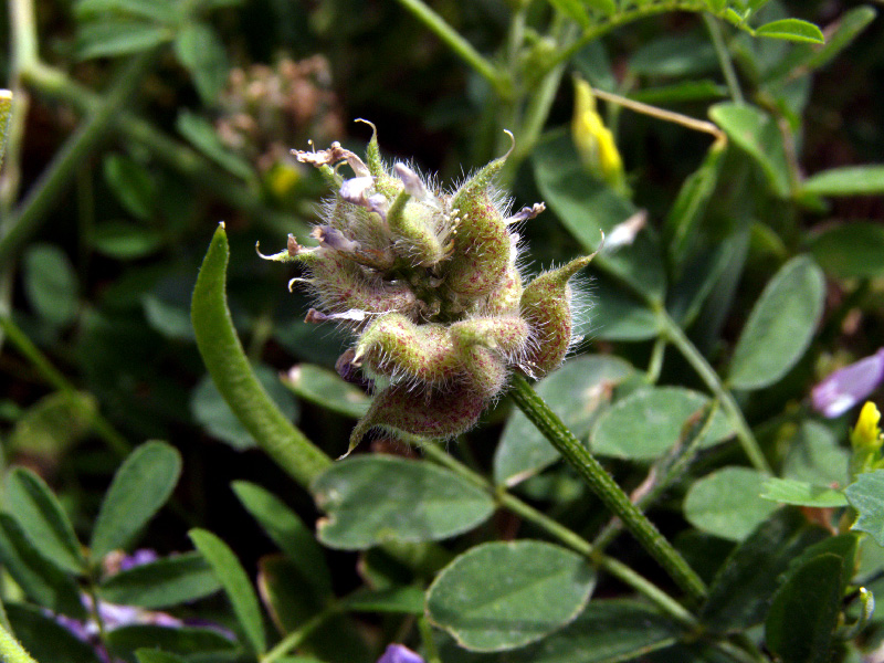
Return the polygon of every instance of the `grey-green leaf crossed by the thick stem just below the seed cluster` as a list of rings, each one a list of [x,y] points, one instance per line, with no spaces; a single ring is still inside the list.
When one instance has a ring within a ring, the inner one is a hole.
[[[567,361],[535,389],[578,439],[586,439],[596,418],[611,402],[613,389],[632,375],[633,368],[618,357],[585,355]],[[494,452],[494,481],[516,485],[558,457],[537,427],[516,410]]]

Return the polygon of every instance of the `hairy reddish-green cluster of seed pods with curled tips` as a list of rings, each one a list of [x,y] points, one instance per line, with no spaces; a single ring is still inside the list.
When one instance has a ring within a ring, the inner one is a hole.
[[[336,194],[314,228],[318,246],[288,235],[285,251],[264,257],[305,267],[290,290],[299,284],[314,296],[307,322],[352,333],[338,372],[368,383],[375,399],[349,450],[375,427],[456,435],[501,396],[513,370],[540,378],[561,364],[573,343],[568,282],[592,256],[523,282],[515,229],[544,204],[509,213],[494,187],[508,154],[449,192],[406,164],[385,165],[376,135],[366,161],[337,143],[294,154],[319,168]],[[336,168],[345,162],[349,179]]]

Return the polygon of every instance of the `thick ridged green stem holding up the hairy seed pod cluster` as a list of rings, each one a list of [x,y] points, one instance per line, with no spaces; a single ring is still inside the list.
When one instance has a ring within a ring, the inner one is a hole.
[[[663,567],[673,580],[695,600],[706,597],[706,586],[678,551],[642,514],[617,485],[604,467],[580,444],[544,400],[522,376],[514,376],[513,400],[537,427],[568,464],[587,482],[592,492],[622,522],[642,547]]]

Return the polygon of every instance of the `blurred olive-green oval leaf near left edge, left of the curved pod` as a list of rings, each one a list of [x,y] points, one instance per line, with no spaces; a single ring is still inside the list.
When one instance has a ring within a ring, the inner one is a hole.
[[[17,418],[6,451],[59,459],[90,432],[97,409],[91,393],[56,391],[44,396]]]

